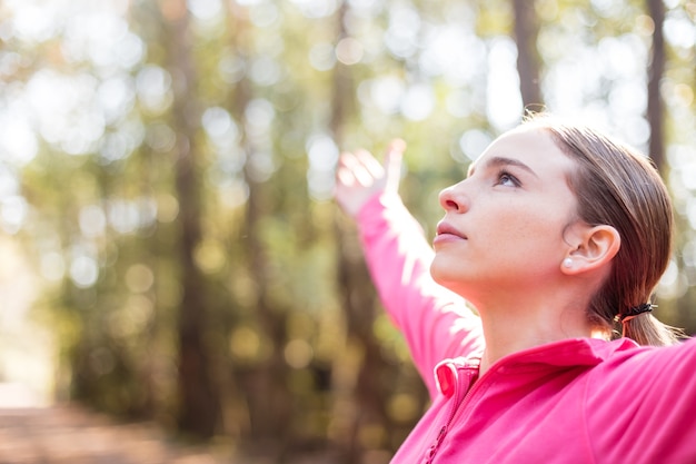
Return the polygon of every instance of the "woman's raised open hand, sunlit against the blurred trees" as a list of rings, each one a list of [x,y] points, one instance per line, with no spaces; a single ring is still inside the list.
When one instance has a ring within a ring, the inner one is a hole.
[[[366,150],[341,154],[336,169],[334,197],[348,215],[357,216],[367,200],[379,191],[398,191],[405,149],[404,140],[392,140],[384,165]]]

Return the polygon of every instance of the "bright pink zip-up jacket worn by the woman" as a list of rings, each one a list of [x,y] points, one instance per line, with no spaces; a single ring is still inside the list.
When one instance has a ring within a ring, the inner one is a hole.
[[[432,249],[400,198],[372,198],[358,225],[432,401],[392,463],[696,463],[695,342],[566,339],[509,355],[477,379],[479,319],[431,280]]]

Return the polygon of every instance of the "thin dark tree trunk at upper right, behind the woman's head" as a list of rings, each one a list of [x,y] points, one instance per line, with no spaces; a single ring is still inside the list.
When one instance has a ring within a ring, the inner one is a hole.
[[[649,155],[655,166],[665,174],[665,135],[663,100],[659,95],[659,83],[665,72],[665,4],[663,0],[647,0],[648,12],[655,23],[653,46],[650,47],[650,62],[648,65],[648,108],[647,119],[650,125]]]

